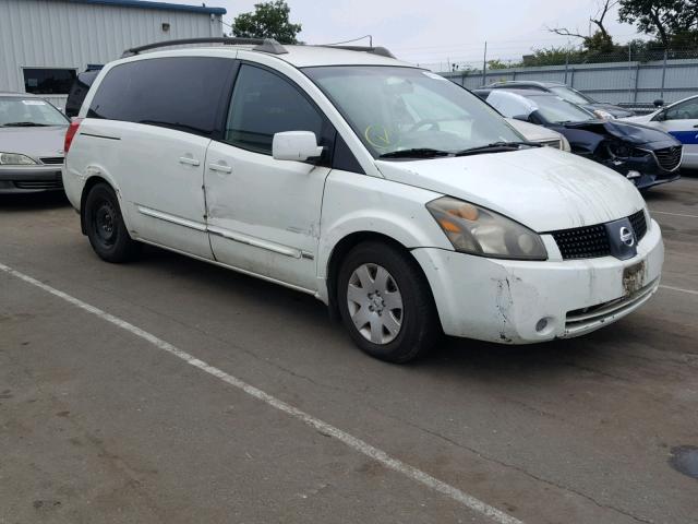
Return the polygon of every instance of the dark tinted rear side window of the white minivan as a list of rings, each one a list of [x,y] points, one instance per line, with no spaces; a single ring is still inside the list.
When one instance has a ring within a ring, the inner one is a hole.
[[[234,62],[225,58],[154,58],[117,66],[95,94],[87,117],[210,136]]]

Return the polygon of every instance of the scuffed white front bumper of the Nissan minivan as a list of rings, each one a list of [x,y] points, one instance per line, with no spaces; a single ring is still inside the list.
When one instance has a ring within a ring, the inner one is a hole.
[[[544,240],[549,245],[552,239]],[[659,286],[664,245],[652,221],[637,255],[623,261],[525,262],[437,248],[412,253],[431,285],[447,335],[531,344],[579,336],[639,308]]]

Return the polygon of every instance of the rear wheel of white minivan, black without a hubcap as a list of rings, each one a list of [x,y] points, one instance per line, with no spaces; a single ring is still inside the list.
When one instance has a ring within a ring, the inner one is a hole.
[[[133,260],[141,245],[129,236],[119,200],[106,183],[98,183],[85,199],[84,223],[87,238],[101,260],[121,263]]]

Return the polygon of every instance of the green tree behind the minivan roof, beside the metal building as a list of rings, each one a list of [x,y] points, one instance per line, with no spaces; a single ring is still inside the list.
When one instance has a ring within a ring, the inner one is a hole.
[[[243,38],[274,38],[281,44],[298,44],[296,35],[301,24],[291,24],[291,8],[285,0],[255,3],[254,12],[238,15],[232,23],[233,36]]]

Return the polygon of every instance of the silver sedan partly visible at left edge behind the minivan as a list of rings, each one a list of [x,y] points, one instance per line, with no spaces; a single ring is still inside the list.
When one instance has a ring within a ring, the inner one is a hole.
[[[62,190],[70,120],[34,95],[0,93],[0,193]]]

